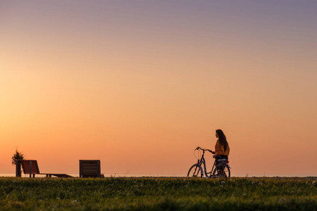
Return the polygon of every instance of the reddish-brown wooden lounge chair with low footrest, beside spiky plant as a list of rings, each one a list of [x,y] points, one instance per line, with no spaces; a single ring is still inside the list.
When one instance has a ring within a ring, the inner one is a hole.
[[[23,173],[30,174],[30,177],[35,177],[35,174],[46,175],[46,177],[60,177],[60,178],[69,178],[72,177],[68,174],[53,174],[53,173],[39,173],[39,166],[37,165],[37,160],[17,160],[22,165]]]

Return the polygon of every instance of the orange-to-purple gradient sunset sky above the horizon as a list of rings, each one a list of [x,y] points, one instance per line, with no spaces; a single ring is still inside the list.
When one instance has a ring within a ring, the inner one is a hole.
[[[317,174],[317,1],[1,1],[0,173]],[[211,156],[209,165],[211,165]]]

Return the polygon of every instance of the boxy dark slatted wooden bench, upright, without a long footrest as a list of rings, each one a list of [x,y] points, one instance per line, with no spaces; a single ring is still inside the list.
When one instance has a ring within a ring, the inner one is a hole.
[[[100,160],[80,160],[80,177],[104,177],[101,174]]]

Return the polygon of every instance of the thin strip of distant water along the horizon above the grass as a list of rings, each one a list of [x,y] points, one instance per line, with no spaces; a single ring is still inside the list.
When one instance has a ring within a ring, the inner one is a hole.
[[[68,174],[79,177],[79,174]],[[104,174],[104,177],[186,177],[187,174]],[[15,174],[0,174],[0,177],[15,177]],[[30,177],[22,174],[22,177]],[[35,175],[45,177],[45,175]],[[231,174],[231,177],[317,177],[317,174]]]

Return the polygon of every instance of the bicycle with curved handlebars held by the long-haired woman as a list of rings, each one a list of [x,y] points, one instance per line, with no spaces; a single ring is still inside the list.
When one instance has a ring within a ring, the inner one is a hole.
[[[199,146],[195,148],[194,151],[198,151],[199,154],[200,154],[200,151],[203,151],[203,153],[201,155],[201,158],[198,158],[198,162],[189,168],[187,177],[205,176],[206,178],[217,178],[217,177],[230,178],[230,166],[228,164],[229,161],[227,159],[215,160],[215,162],[213,162],[213,167],[211,169],[212,174],[211,174],[211,172],[207,172],[206,170],[206,160],[204,158],[204,154],[205,154],[205,151],[208,151],[209,153],[213,153],[213,151],[206,148],[200,148]],[[201,165],[204,165],[204,169],[201,167]]]

